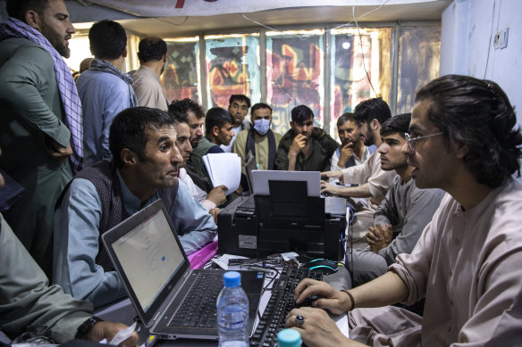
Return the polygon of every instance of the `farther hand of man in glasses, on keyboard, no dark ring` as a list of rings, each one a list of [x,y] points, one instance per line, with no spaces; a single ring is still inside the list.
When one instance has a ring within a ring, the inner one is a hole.
[[[341,314],[351,307],[351,302],[346,293],[336,291],[326,282],[311,278],[303,279],[296,286],[294,293],[296,304],[304,302],[312,294],[319,297],[315,302],[312,302],[313,307],[329,310],[333,314]]]

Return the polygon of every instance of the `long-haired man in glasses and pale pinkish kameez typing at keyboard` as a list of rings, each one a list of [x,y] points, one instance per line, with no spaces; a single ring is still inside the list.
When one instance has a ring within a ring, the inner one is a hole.
[[[290,311],[286,326],[304,318],[298,330],[307,346],[520,345],[522,183],[512,175],[520,174],[522,134],[507,95],[489,80],[434,79],[417,92],[403,152],[418,188],[447,192],[413,252],[344,293],[304,280],[296,302],[322,299]],[[422,318],[382,307],[422,298]],[[317,308],[351,311],[352,340]]]

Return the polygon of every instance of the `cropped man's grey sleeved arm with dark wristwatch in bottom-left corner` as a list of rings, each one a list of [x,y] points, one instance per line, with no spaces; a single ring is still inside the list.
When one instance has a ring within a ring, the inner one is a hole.
[[[23,5],[23,4],[22,4]],[[0,149],[0,156],[2,150]],[[0,205],[7,204],[16,189],[12,179],[0,171]],[[111,341],[128,326],[97,321],[92,305],[73,300],[58,285],[49,285],[46,274],[14,235],[0,213],[0,344],[26,342],[25,336],[38,335],[49,343],[65,343],[72,338]],[[26,334],[26,333],[32,334]],[[133,333],[121,345],[135,346]],[[7,345],[7,344],[6,344]],[[10,344],[9,344],[10,345]]]

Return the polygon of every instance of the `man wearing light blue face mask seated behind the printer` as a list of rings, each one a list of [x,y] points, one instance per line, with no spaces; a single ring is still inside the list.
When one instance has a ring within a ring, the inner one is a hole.
[[[256,103],[250,111],[252,128],[240,131],[234,142],[233,152],[241,158],[243,174],[245,163],[256,157],[257,169],[274,169],[275,153],[282,135],[272,131],[272,107]]]

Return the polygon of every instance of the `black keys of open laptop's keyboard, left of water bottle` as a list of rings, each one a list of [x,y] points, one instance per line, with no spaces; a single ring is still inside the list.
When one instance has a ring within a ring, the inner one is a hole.
[[[216,328],[215,304],[222,288],[223,274],[198,274],[169,326]]]

